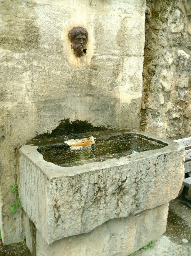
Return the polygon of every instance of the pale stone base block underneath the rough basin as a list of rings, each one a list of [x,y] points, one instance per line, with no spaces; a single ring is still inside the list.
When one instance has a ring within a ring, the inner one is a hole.
[[[167,213],[168,204],[164,204],[106,221],[89,233],[66,237],[51,245],[46,244],[36,230],[36,256],[127,256],[161,237],[166,229]],[[31,235],[28,236],[31,239]]]

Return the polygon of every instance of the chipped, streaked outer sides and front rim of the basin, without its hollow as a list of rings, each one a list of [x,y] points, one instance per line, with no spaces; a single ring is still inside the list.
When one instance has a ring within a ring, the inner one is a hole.
[[[73,167],[46,162],[37,146],[25,145],[19,151],[18,173],[24,211],[52,244],[109,219],[168,203],[182,185],[184,147],[163,143],[169,146]]]

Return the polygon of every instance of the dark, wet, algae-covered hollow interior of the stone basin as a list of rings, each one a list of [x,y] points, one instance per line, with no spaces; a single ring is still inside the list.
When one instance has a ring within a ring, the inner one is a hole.
[[[65,143],[65,141],[71,139],[76,140],[90,136],[95,138],[95,144],[81,146],[79,149],[72,149],[71,146]],[[123,131],[117,131],[117,133],[115,131],[114,133],[113,130],[44,138],[29,143],[38,145],[37,151],[43,155],[45,161],[64,167],[119,158],[135,153],[135,151],[139,153],[161,149],[166,146],[162,142],[149,139],[141,134],[124,133]]]

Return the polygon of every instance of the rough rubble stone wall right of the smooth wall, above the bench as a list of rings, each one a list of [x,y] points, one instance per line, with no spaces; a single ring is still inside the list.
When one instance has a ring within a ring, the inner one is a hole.
[[[147,0],[141,129],[191,136],[191,1]]]

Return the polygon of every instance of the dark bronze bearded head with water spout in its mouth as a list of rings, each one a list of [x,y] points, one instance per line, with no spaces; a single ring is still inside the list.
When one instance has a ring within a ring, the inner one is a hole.
[[[72,43],[72,49],[76,57],[86,54],[86,43],[88,41],[88,32],[83,27],[73,27],[68,34]]]

